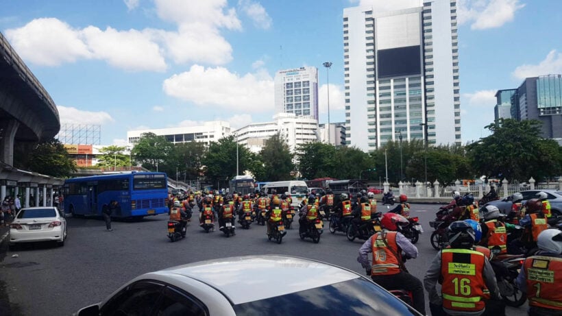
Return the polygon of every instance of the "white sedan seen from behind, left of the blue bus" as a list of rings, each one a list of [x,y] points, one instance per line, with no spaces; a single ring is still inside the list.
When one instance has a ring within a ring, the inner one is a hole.
[[[8,245],[14,250],[18,243],[56,241],[63,246],[66,219],[55,207],[22,208],[10,224]]]

